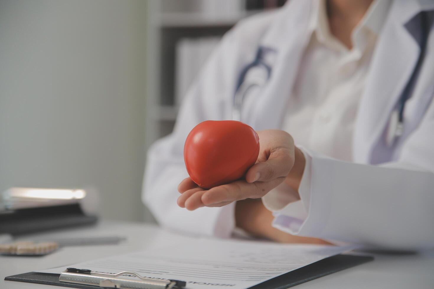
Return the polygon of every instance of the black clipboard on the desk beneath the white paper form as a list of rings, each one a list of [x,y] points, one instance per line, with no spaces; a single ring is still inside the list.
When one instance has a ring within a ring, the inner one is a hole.
[[[285,289],[292,286],[296,286],[301,283],[308,282],[313,279],[317,279],[322,276],[326,276],[335,272],[339,272],[344,269],[348,269],[369,261],[374,260],[374,257],[371,256],[358,256],[358,255],[349,255],[349,254],[339,254],[332,257],[328,257],[322,260],[319,260],[315,263],[309,264],[302,268],[293,270],[291,272],[282,274],[273,279],[267,280],[263,283],[259,283],[255,286],[250,287],[250,289]],[[77,269],[76,269],[77,270]],[[121,272],[125,273],[125,272]],[[119,275],[112,274],[112,275]],[[131,273],[131,272],[128,272]],[[133,273],[135,274],[135,273]],[[137,274],[135,274],[137,275]],[[59,281],[61,274],[52,274],[52,273],[38,273],[38,272],[30,272],[23,273],[13,276],[8,276],[5,280],[8,281],[18,281],[18,282],[27,282],[27,283],[38,283],[45,285],[55,285],[69,288],[80,288],[80,289],[95,289],[102,288],[100,286],[88,285],[88,284],[80,284],[80,283],[66,283]],[[117,278],[117,277],[113,277]],[[178,281],[178,280],[170,280],[170,281]],[[167,283],[166,283],[167,284]],[[103,283],[105,285],[105,283]],[[110,284],[109,284],[110,285]],[[162,285],[162,284],[161,284]],[[185,284],[177,283],[174,284],[171,288],[184,288]],[[104,288],[107,288],[104,286]],[[115,288],[115,287],[112,287]],[[119,287],[118,287],[119,288]],[[122,287],[128,288],[128,287]],[[137,287],[136,287],[137,288]],[[145,288],[145,287],[143,287]],[[148,287],[148,288],[164,288],[164,287]],[[168,286],[165,287],[169,289]],[[188,286],[186,287],[188,288]]]

